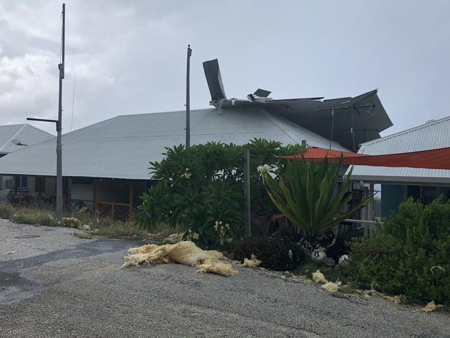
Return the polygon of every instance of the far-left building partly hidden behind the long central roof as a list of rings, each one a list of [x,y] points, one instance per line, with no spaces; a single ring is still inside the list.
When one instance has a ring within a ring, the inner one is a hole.
[[[0,125],[0,157],[53,139],[55,136],[32,125]],[[19,193],[28,193],[31,190],[34,193],[36,189],[39,190],[39,183],[39,179],[35,181],[27,176],[0,176],[0,190],[17,190]]]

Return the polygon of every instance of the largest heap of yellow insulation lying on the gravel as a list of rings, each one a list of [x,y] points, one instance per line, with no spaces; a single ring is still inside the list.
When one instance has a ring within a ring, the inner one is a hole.
[[[194,242],[178,242],[177,244],[147,244],[142,247],[131,248],[128,256],[124,257],[122,267],[134,265],[150,265],[152,263],[180,263],[191,267],[198,267],[197,272],[233,276],[237,274],[231,264],[219,262],[224,255],[216,250],[202,250]]]

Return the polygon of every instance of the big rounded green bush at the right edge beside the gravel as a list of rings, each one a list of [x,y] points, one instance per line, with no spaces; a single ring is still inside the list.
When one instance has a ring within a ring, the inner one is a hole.
[[[346,272],[360,287],[404,294],[409,302],[450,304],[450,203],[408,199],[370,238],[350,244]]]

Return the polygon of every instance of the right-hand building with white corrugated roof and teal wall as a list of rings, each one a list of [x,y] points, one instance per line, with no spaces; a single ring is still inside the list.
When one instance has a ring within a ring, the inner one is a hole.
[[[450,147],[450,116],[363,143],[359,154],[379,155]],[[442,195],[450,199],[450,170],[354,166],[352,181],[381,184],[381,215],[398,211],[408,197],[428,204]]]

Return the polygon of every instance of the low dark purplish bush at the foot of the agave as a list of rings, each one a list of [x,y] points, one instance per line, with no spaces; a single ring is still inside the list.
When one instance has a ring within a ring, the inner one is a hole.
[[[289,250],[292,255],[289,255]],[[262,261],[261,267],[275,271],[295,270],[308,259],[308,254],[298,242],[280,234],[242,240],[232,256],[243,262],[252,254]]]

